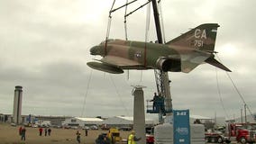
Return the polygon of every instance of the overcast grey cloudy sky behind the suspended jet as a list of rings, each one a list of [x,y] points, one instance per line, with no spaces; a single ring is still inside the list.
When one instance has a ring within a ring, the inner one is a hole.
[[[133,4],[129,11],[144,2]],[[87,61],[95,58],[89,49],[105,40],[112,3],[0,1],[0,113],[13,112],[15,85],[23,86],[23,114],[131,116],[131,85],[147,86],[145,99],[151,99],[156,91],[152,70],[130,71],[128,80],[126,73],[110,75],[87,67]],[[124,3],[118,0],[114,7]],[[233,82],[255,112],[256,1],[162,0],[161,5],[167,41],[201,23],[219,23],[215,50],[233,71]],[[146,12],[145,7],[128,17],[129,40],[145,40]],[[113,14],[110,38],[124,39],[123,13]],[[156,40],[152,20],[151,14],[149,40]],[[215,112],[229,118],[240,116],[242,100],[223,70],[205,64],[188,74],[169,73],[169,78],[174,109],[210,117]]]

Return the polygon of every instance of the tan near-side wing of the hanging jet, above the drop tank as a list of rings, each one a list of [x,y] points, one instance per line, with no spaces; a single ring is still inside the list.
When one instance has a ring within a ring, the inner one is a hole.
[[[143,66],[138,61],[131,60],[128,58],[115,57],[115,56],[105,56],[104,58],[100,59],[99,61],[101,61],[105,64],[108,64],[108,65],[112,65],[114,67],[120,67],[123,69]]]

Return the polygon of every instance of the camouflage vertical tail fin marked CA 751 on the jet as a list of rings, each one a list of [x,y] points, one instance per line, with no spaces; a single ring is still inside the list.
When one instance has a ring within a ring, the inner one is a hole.
[[[213,53],[215,51],[215,40],[218,27],[219,25],[217,23],[201,24],[177,38],[170,40],[166,44],[200,49]]]

